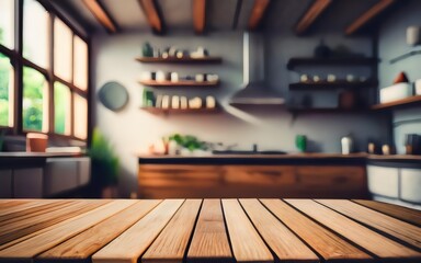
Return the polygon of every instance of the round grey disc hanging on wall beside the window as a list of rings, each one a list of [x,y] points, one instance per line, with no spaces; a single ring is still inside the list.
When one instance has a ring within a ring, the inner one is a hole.
[[[126,88],[118,82],[105,83],[99,91],[100,102],[109,110],[116,112],[122,110],[128,101]]]

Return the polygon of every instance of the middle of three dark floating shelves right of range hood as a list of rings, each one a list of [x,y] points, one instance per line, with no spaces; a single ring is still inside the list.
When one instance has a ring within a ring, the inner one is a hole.
[[[377,81],[364,81],[364,82],[348,82],[348,81],[335,81],[335,82],[298,82],[291,83],[289,90],[329,90],[329,89],[363,89],[377,87]]]

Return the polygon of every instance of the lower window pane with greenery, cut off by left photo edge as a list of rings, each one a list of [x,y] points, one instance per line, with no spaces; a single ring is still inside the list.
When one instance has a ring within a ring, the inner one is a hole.
[[[0,126],[13,126],[13,68],[0,53]]]

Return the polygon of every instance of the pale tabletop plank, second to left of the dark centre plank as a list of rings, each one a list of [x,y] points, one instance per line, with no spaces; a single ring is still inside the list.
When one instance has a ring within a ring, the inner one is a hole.
[[[172,216],[183,199],[166,199],[153,210],[92,255],[93,263],[136,263]]]

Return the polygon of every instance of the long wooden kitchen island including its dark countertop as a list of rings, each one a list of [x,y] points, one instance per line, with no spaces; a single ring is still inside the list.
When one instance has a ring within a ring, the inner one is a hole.
[[[138,196],[366,198],[366,155],[138,156]]]

